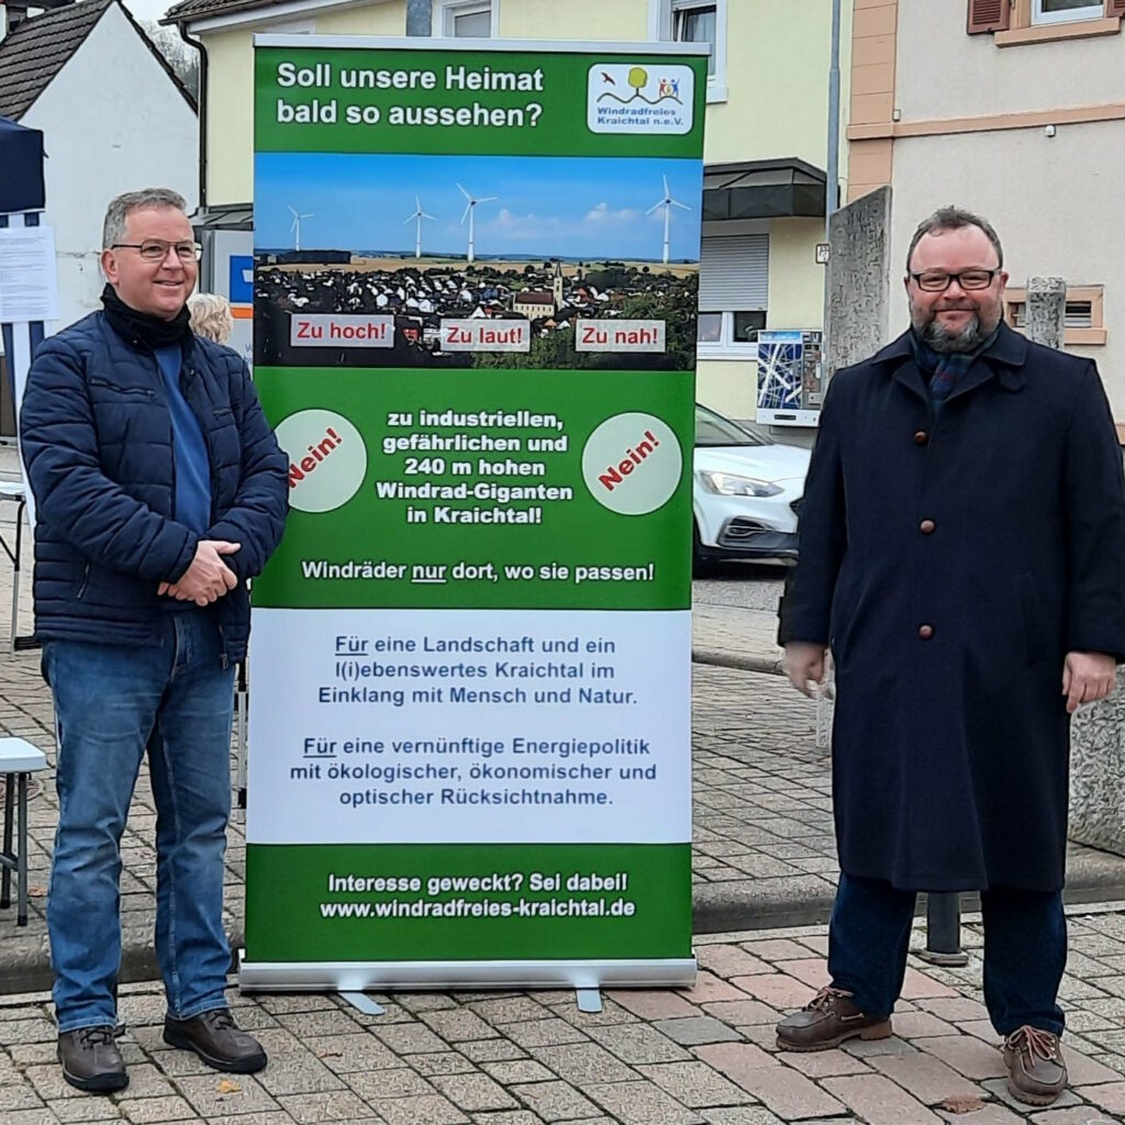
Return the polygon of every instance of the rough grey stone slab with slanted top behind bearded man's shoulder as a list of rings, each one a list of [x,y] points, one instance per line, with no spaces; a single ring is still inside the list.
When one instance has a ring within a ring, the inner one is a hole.
[[[832,213],[828,224],[825,376],[873,356],[888,341],[891,189],[879,188]]]

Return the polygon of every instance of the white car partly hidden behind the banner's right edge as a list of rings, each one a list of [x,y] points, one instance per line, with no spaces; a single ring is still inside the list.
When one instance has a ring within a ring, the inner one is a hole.
[[[796,559],[796,513],[810,451],[783,446],[695,404],[692,559]]]

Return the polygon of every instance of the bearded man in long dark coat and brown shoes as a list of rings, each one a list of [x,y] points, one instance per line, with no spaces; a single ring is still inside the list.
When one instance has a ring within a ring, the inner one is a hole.
[[[917,891],[979,890],[1009,1088],[1066,1082],[1056,1002],[1070,716],[1125,658],[1122,453],[1090,360],[1002,321],[1000,241],[944,208],[907,256],[911,327],[836,372],[782,605],[786,673],[836,667],[831,987],[790,1050],[891,1034]]]

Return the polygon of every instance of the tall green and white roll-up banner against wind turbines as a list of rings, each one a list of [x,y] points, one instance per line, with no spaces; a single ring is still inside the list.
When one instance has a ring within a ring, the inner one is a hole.
[[[698,50],[255,40],[244,987],[694,976]]]

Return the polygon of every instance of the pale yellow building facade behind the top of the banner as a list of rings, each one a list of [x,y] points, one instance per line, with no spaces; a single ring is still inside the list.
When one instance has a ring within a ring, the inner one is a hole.
[[[850,7],[846,0],[845,94]],[[251,200],[254,33],[403,36],[406,14],[406,0],[183,0],[170,9],[168,20],[206,57],[207,209]],[[699,396],[735,417],[755,415],[757,331],[822,322],[816,246],[824,240],[830,15],[831,0],[432,2],[440,36],[712,44]]]

